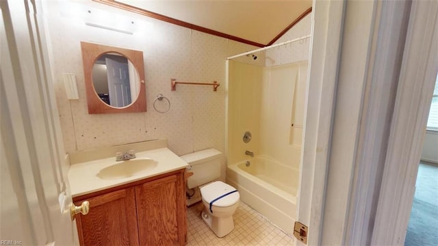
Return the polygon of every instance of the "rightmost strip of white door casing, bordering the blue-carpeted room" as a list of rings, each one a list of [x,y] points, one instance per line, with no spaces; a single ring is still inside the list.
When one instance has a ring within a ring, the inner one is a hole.
[[[438,73],[438,2],[413,1],[371,244],[403,245]]]

